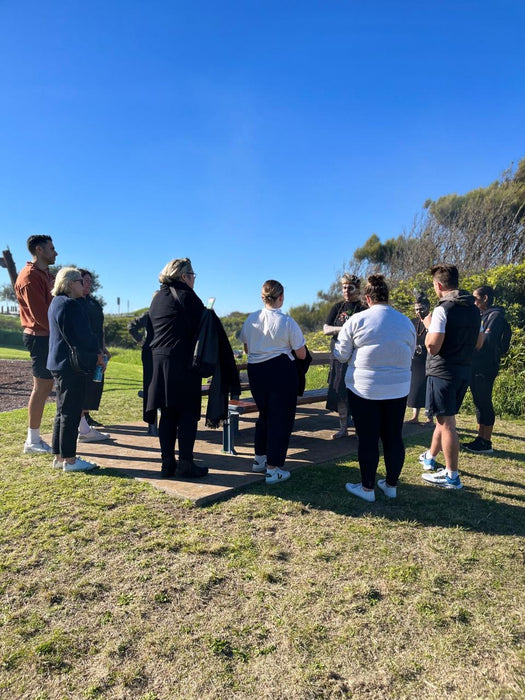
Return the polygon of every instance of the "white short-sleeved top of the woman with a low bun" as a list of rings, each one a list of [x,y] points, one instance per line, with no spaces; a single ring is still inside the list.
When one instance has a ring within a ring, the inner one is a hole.
[[[240,339],[248,348],[248,363],[266,362],[283,353],[293,360],[292,350],[305,344],[298,324],[281,309],[261,309],[248,316]]]

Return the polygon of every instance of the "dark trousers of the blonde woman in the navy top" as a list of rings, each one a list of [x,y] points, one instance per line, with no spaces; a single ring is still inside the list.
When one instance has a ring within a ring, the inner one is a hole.
[[[57,412],[53,424],[53,454],[74,457],[77,453],[78,424],[84,408],[85,374],[66,369],[53,372],[57,393]]]

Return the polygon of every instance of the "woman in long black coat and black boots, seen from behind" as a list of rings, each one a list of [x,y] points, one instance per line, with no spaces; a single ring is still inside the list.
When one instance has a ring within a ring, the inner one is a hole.
[[[201,377],[191,369],[204,304],[193,291],[196,274],[189,258],[171,260],[161,271],[160,290],[153,297],[149,319],[153,331],[153,372],[148,387],[147,422],[160,409],[159,441],[162,477],[175,472],[200,478],[208,469],[193,461],[201,414]],[[179,461],[175,459],[178,439]]]

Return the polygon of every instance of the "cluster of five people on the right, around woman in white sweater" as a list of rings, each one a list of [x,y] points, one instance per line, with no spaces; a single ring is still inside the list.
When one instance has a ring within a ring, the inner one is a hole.
[[[438,304],[430,313],[428,298],[418,294],[412,324],[389,306],[382,276],[368,278],[363,310],[356,308],[362,303],[356,294],[359,279],[345,275],[341,280],[344,301],[331,309],[324,325],[325,334],[334,336],[327,407],[337,408],[340,418],[340,430],[332,438],[346,436],[349,410],[359,439],[361,482],[346,484],[346,489],[365,501],[375,500],[379,441],[386,479],[377,485],[387,497],[397,495],[405,458],[402,427],[407,403],[413,409],[408,422],[417,422],[423,407],[427,424],[436,421],[430,448],[419,457],[427,483],[446,489],[463,486],[455,416],[469,386],[478,436],[463,447],[475,453],[493,451],[492,389],[504,351],[500,343],[506,324],[503,310],[493,306],[494,292],[488,286],[477,288],[473,295],[459,290],[454,265],[436,265],[430,273]],[[443,468],[437,462],[440,452]]]

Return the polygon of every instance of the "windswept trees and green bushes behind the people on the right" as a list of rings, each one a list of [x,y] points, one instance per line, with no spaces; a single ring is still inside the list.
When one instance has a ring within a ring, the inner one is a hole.
[[[458,267],[465,288],[496,280],[491,286],[510,313],[511,323],[525,328],[520,268],[525,261],[524,229],[525,158],[487,187],[428,199],[409,230],[385,242],[372,234],[354,251],[344,271],[362,279],[373,273],[385,275],[396,307],[406,313],[413,304],[414,290],[427,291],[433,299],[430,267],[437,262],[451,263]],[[340,274],[328,290],[317,293],[314,303],[290,309],[303,329],[322,328],[331,304],[341,298]]]

